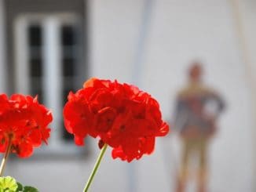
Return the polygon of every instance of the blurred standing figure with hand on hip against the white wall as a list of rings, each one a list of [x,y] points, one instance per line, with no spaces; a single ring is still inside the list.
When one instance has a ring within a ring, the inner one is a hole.
[[[216,132],[216,120],[224,109],[224,102],[214,90],[203,85],[202,72],[200,63],[192,63],[188,70],[188,85],[177,96],[174,126],[183,143],[177,192],[185,191],[188,163],[194,157],[199,160],[199,168],[196,169],[198,191],[207,191],[208,143]]]

